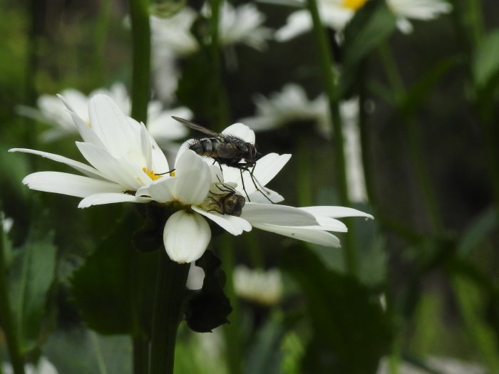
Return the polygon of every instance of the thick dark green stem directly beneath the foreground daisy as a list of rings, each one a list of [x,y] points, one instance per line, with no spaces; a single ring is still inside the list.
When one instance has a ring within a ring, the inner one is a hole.
[[[173,374],[175,341],[189,266],[170,260],[166,251],[160,249],[150,346],[150,374]]]

